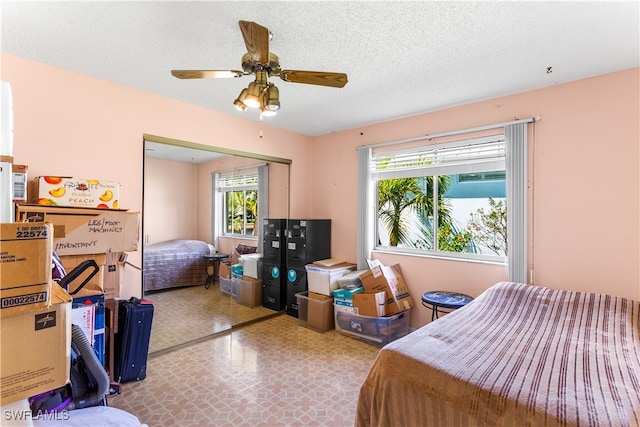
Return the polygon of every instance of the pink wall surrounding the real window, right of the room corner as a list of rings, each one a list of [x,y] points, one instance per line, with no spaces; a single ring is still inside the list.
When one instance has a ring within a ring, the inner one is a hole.
[[[357,152],[392,141],[540,115],[530,135],[532,281],[640,300],[639,70],[463,105],[318,137],[313,215],[333,219],[336,257],[355,260]],[[376,254],[399,263],[414,299],[430,289],[472,296],[506,268]],[[428,322],[418,306],[411,324]]]

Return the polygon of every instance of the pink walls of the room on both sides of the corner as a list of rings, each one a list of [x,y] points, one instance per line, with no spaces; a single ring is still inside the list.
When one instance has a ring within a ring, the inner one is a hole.
[[[638,69],[317,138],[7,54],[1,71],[14,95],[15,161],[31,176],[117,180],[121,206],[139,211],[144,133],[289,158],[291,217],[331,218],[332,256],[349,261],[356,257],[355,147],[540,115],[530,140],[532,279],[640,300]],[[417,301],[435,288],[475,296],[506,278],[503,266],[376,256],[400,263]],[[126,289],[134,294],[140,274],[131,270]],[[411,324],[427,318],[418,306]]]

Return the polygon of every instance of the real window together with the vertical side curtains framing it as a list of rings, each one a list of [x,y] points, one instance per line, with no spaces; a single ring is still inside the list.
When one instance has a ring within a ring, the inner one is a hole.
[[[526,283],[531,122],[359,147],[358,268],[385,250],[507,262],[509,280]],[[497,135],[474,137],[487,130]]]

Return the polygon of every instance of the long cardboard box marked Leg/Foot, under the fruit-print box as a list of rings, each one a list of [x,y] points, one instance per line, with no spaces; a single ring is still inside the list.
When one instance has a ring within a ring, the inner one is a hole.
[[[18,205],[16,216],[19,222],[51,222],[60,256],[138,250],[138,212]]]

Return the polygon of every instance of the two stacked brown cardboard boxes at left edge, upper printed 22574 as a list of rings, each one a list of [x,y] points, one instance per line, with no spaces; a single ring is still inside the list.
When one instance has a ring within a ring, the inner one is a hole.
[[[0,224],[0,405],[69,381],[71,297],[51,277],[53,226]]]

